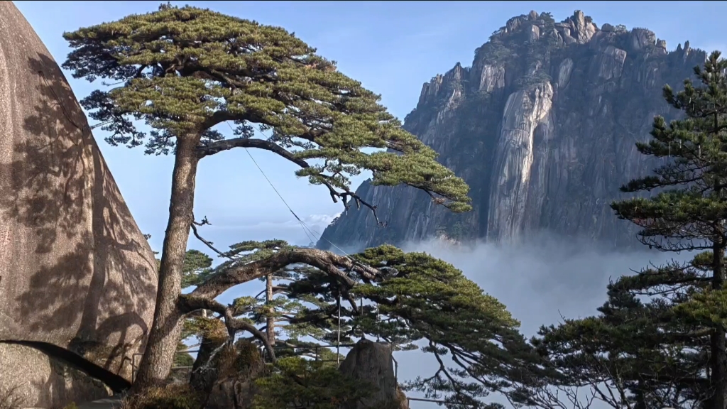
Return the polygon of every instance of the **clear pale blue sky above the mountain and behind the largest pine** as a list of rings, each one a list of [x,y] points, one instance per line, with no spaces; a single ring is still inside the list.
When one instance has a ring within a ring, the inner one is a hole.
[[[186,3],[174,1],[183,5]],[[150,12],[157,1],[15,1],[56,60],[65,60],[64,31]],[[514,15],[550,11],[556,20],[581,8],[595,23],[651,28],[670,49],[686,39],[694,47],[722,48],[720,29],[727,5],[721,1],[191,1],[219,12],[280,25],[338,61],[340,69],[382,95],[403,118],[417,104],[422,83],[461,62]],[[690,18],[686,18],[690,16]],[[691,17],[699,16],[699,18]],[[94,84],[74,80],[78,98]],[[169,206],[171,158],[144,156],[141,148],[113,148],[96,138],[142,231],[161,247]],[[295,167],[267,152],[252,154],[294,210],[321,232],[340,212],[325,188],[308,186]],[[361,179],[357,180],[360,183]],[[244,239],[288,239],[308,244],[304,231],[243,151],[204,159],[198,178],[196,215],[214,226],[205,234],[219,245]],[[199,247],[190,240],[190,247]]]

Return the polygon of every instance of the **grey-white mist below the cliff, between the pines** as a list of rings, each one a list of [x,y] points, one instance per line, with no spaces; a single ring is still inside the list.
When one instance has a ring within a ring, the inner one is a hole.
[[[603,250],[596,244],[583,245],[576,239],[539,235],[521,244],[456,245],[440,239],[406,243],[407,252],[425,252],[462,270],[485,293],[496,297],[521,322],[526,338],[537,334],[541,325],[557,325],[563,318],[598,314],[606,301],[606,285],[622,275],[635,274],[649,263],[659,265],[686,255],[654,250]],[[396,352],[398,379],[430,376],[436,362],[422,352]],[[408,392],[409,397],[421,397]],[[495,394],[486,398],[510,407]],[[593,409],[607,408],[594,402]],[[435,403],[412,402],[411,408],[441,408]]]

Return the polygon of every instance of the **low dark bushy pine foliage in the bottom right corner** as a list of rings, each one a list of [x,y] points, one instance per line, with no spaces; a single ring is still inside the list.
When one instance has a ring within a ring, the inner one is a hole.
[[[633,285],[642,278],[611,283],[598,316],[540,329],[532,343],[561,374],[550,387],[585,386],[590,391],[582,397],[614,409],[702,408],[709,334],[676,316],[678,301],[671,297],[643,303],[639,298],[650,294],[650,287]],[[553,407],[553,394],[536,395],[539,407]]]

